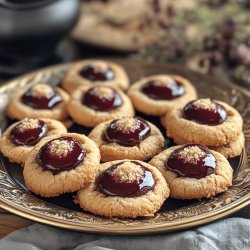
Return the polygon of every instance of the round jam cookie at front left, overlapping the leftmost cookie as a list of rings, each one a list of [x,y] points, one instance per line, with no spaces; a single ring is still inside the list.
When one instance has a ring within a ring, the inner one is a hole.
[[[23,171],[25,185],[43,197],[75,192],[93,181],[99,164],[99,149],[88,137],[52,135],[28,155]]]

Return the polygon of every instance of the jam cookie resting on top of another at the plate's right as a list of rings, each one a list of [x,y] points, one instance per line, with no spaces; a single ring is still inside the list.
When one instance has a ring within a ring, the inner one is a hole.
[[[167,136],[177,144],[226,145],[236,140],[243,126],[237,110],[209,98],[192,101],[183,109],[174,109],[162,120]]]

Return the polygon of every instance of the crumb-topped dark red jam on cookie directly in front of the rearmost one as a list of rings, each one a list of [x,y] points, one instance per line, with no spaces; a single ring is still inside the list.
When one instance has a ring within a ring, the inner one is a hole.
[[[83,96],[82,102],[94,110],[103,112],[116,109],[123,103],[116,90],[104,86],[89,89]]]

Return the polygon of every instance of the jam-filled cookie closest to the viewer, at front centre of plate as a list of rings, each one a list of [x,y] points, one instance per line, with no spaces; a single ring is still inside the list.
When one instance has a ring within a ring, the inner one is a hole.
[[[168,185],[156,168],[125,160],[101,164],[95,182],[79,190],[76,201],[94,214],[136,218],[153,216],[168,196]]]

